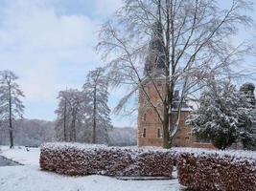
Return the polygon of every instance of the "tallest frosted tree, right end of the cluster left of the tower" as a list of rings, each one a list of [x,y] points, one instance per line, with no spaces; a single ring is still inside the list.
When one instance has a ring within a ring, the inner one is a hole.
[[[109,93],[107,91],[108,80],[105,77],[105,70],[97,68],[87,74],[87,79],[83,85],[83,94],[87,97],[87,124],[92,125],[92,142],[99,142],[99,138],[108,141],[107,129],[111,127],[110,109],[107,101]]]

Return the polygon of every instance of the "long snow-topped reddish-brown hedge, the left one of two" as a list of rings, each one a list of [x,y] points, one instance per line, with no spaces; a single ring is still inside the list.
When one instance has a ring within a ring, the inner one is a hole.
[[[40,167],[71,176],[171,177],[173,159],[173,152],[164,149],[46,143],[41,146]]]

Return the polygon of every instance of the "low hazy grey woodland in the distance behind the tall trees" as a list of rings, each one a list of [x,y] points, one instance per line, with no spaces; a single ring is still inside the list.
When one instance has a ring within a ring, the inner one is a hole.
[[[30,147],[38,147],[44,142],[57,141],[56,137],[56,121],[46,121],[38,119],[17,119],[13,123],[14,145],[24,145]],[[90,141],[91,128],[86,128],[83,134],[78,135],[78,141]],[[81,128],[80,128],[81,131]],[[79,132],[80,132],[79,131]],[[88,133],[89,135],[86,135]],[[84,136],[85,138],[81,138]],[[108,132],[108,145],[130,146],[137,145],[137,129],[136,128],[120,128],[113,127]],[[5,126],[0,127],[0,145],[10,143],[9,131]]]

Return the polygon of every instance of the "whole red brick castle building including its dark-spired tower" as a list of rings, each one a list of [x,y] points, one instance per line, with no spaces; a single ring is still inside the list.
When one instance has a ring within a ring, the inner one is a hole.
[[[156,106],[159,113],[162,112],[161,96],[165,92],[165,53],[162,46],[162,30],[160,25],[153,27],[149,53],[144,67],[144,78],[139,88],[138,101],[138,146],[163,146],[162,124],[157,113],[151,107]],[[145,94],[146,93],[146,94]],[[151,101],[149,101],[149,99]],[[175,102],[179,101],[178,92],[175,91]],[[193,107],[182,103],[181,117],[178,131],[173,139],[174,146],[184,147],[207,147],[212,148],[211,144],[201,144],[196,142],[192,136],[192,129],[185,124],[186,117],[193,111]],[[175,105],[172,108],[170,117],[170,128],[176,122],[177,111]]]

